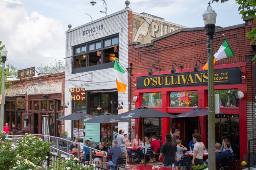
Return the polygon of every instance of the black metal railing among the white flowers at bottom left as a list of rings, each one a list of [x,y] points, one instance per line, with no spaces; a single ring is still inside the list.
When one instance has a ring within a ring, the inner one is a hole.
[[[58,166],[58,161],[60,161],[60,162],[66,161],[65,158],[62,158],[61,156],[53,155],[49,151],[47,152],[47,156],[48,156],[47,166],[49,167],[51,165],[51,168],[53,168],[53,169]],[[81,165],[83,167],[86,165],[90,165],[89,163],[82,162],[82,161],[77,161],[77,163],[79,163],[79,165]],[[98,167],[98,166],[95,166],[93,169],[94,170],[109,170],[107,168],[102,168],[102,167]]]

